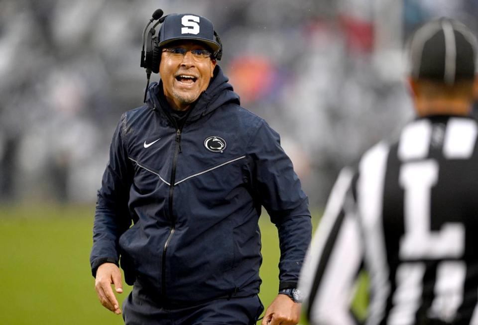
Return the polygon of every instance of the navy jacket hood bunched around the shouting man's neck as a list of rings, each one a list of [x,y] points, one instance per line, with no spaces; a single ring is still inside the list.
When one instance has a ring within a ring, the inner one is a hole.
[[[196,120],[225,104],[234,103],[240,105],[239,95],[234,92],[233,86],[228,82],[229,78],[223,73],[221,67],[217,65],[208,88],[199,96],[188,120]],[[162,81],[159,81],[159,83],[154,82],[148,87],[146,97],[148,107],[154,109],[161,106],[159,100],[160,92],[162,92]]]

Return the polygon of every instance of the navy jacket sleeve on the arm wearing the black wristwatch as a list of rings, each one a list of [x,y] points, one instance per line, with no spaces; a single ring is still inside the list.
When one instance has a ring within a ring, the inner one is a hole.
[[[309,203],[292,162],[280,146],[279,134],[263,120],[253,136],[251,159],[256,197],[279,233],[279,290],[296,288],[311,240]]]

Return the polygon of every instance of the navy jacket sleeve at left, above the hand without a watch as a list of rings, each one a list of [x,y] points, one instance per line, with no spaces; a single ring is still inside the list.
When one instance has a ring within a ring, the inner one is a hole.
[[[106,262],[119,265],[119,236],[131,225],[128,211],[129,187],[133,170],[127,158],[124,136],[126,114],[121,116],[110,147],[110,160],[103,174],[102,186],[93,225],[93,248],[90,255],[92,274]]]

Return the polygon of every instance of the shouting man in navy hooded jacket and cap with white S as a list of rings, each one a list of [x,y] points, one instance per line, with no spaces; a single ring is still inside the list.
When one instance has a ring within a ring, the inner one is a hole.
[[[134,285],[126,324],[255,324],[263,206],[281,249],[263,324],[297,324],[311,222],[279,135],[239,106],[208,19],[170,14],[153,42],[161,81],[121,116],[98,192],[90,261],[101,303],[121,313],[111,287],[122,292],[121,265]]]

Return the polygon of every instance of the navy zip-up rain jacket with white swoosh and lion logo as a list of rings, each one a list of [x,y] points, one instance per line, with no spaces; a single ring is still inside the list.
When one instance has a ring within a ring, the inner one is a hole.
[[[311,220],[279,135],[239,106],[219,66],[182,130],[160,91],[152,84],[146,105],[124,113],[115,131],[98,192],[93,276],[102,263],[120,264],[126,283],[176,305],[257,294],[263,206],[278,228],[280,287],[294,287]],[[208,138],[222,150],[206,148]]]

